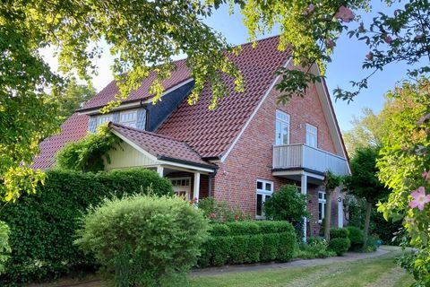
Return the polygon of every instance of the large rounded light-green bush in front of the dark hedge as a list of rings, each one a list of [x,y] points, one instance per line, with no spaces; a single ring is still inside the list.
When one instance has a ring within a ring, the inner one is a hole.
[[[116,286],[162,286],[196,263],[206,238],[202,213],[177,197],[130,196],[90,208],[75,241]]]

